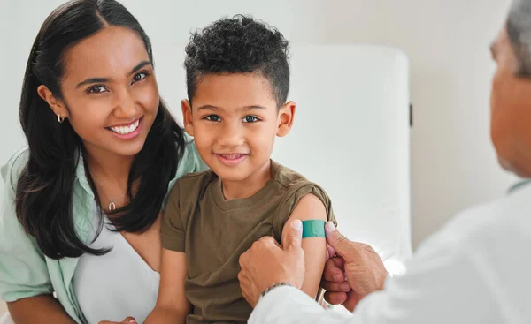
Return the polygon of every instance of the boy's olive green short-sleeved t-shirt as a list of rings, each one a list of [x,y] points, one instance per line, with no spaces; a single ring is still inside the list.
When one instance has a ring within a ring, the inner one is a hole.
[[[193,309],[188,324],[246,323],[252,308],[242,298],[240,255],[260,237],[281,242],[284,223],[308,193],[325,205],[327,193],[293,170],[271,162],[271,180],[249,198],[225,200],[212,170],[181,177],[170,192],[162,222],[162,246],[184,252],[186,297]]]

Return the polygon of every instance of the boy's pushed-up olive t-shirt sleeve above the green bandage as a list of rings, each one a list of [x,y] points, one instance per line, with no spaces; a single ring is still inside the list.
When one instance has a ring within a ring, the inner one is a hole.
[[[325,205],[327,210],[327,221],[332,221],[337,225],[334,216],[334,210],[332,209],[332,202],[327,195],[327,192],[319,185],[316,185],[310,181],[303,181],[296,185],[292,185],[292,188],[286,193],[284,199],[276,209],[273,218],[273,234],[277,240],[282,237],[282,229],[284,224],[288,222],[289,216],[296,207],[296,204],[307,194],[313,194]]]

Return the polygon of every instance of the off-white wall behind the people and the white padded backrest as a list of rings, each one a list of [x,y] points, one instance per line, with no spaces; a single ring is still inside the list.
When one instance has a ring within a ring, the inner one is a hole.
[[[3,78],[0,161],[23,144],[18,124],[24,64],[45,16],[62,0],[1,0]],[[489,42],[509,0],[124,0],[157,49],[182,44],[189,31],[235,13],[277,26],[296,44],[377,42],[411,60],[413,243],[459,209],[502,194],[514,179],[502,172],[489,143]],[[8,34],[5,31],[12,31]],[[181,62],[161,61],[158,74],[184,81]],[[167,75],[167,74],[166,74]],[[168,79],[165,76],[164,79]],[[161,93],[173,91],[161,84]],[[169,102],[177,112],[178,102]]]

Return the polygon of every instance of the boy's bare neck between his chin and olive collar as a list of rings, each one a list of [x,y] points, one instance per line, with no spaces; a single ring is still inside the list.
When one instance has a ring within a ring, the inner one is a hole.
[[[271,160],[242,181],[231,182],[221,179],[223,197],[225,200],[249,198],[264,188],[269,180],[271,180]]]

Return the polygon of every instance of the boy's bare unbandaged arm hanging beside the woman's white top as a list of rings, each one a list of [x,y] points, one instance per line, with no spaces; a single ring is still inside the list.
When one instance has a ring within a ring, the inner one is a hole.
[[[184,293],[184,281],[187,275],[185,254],[162,249],[157,304],[144,324],[186,322],[191,310]]]

